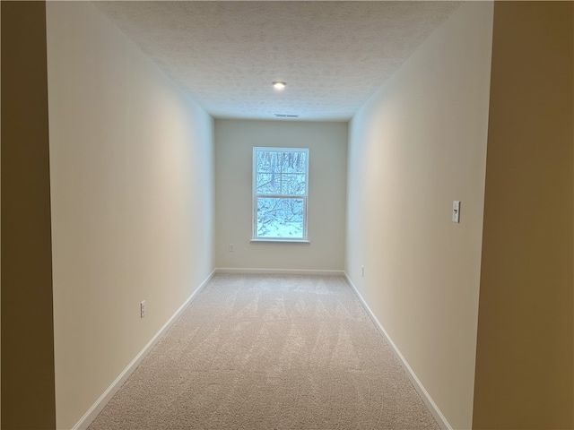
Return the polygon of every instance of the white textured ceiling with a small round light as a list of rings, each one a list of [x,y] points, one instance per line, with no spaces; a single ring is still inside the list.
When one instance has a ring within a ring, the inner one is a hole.
[[[348,120],[459,2],[95,2],[214,117]],[[287,82],[283,91],[272,82]]]

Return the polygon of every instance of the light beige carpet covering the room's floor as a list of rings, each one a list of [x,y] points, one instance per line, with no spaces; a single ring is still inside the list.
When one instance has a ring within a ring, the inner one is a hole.
[[[437,425],[343,277],[218,274],[89,430]]]

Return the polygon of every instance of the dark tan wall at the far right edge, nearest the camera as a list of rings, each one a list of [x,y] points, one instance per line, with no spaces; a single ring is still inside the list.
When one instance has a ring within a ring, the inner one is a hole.
[[[572,428],[572,3],[494,6],[476,429]]]

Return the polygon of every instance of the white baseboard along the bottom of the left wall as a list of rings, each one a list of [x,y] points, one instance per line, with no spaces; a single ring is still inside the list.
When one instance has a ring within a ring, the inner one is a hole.
[[[102,409],[106,407],[109,400],[111,400],[111,398],[114,397],[116,392],[126,382],[127,378],[129,378],[129,376],[134,373],[137,366],[139,366],[140,363],[142,363],[143,358],[145,358],[145,356],[147,356],[150,353],[152,348],[155,346],[156,343],[158,343],[161,337],[168,330],[170,330],[170,327],[173,325],[173,323],[176,322],[179,315],[182,314],[183,311],[187,308],[187,306],[193,301],[193,299],[196,298],[197,294],[205,287],[205,285],[207,285],[207,282],[209,282],[209,280],[213,278],[214,274],[215,270],[213,270],[207,276],[207,278],[201,283],[201,285],[198,288],[196,288],[196,290],[193,292],[191,296],[187,298],[184,304],[179,306],[178,310],[173,315],[171,315],[168,322],[163,324],[163,327],[161,327],[160,331],[155,333],[155,335],[152,337],[152,340],[150,340],[147,343],[147,345],[143,347],[143,349],[139,352],[137,356],[135,356],[132,362],[126,366],[126,368],[122,371],[121,374],[117,376],[116,380],[113,383],[111,383],[111,385],[109,385],[108,389],[101,394],[100,399],[96,400],[95,403],[91,405],[91,408],[88,409],[88,411],[85,414],[83,414],[83,417],[81,417],[80,420],[72,427],[72,430],[85,430],[86,428],[88,428],[88,426],[91,425],[91,422],[96,417],[98,417],[98,414],[100,414]]]

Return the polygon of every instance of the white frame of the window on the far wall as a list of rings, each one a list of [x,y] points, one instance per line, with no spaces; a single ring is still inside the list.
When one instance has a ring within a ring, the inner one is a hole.
[[[274,151],[274,152],[305,152],[305,194],[266,194],[257,193],[257,152]],[[309,148],[279,148],[279,147],[253,147],[252,154],[252,238],[251,243],[257,242],[285,242],[285,243],[302,243],[309,244],[308,236],[308,200],[309,200]],[[303,236],[298,238],[291,237],[259,237],[257,236],[257,199],[258,198],[280,198],[280,199],[298,199],[303,200]]]

